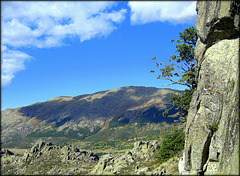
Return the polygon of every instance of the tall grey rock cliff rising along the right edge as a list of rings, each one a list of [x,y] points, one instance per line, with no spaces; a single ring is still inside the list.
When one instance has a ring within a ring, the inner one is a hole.
[[[186,124],[182,174],[239,174],[239,14],[237,1],[198,1],[198,87]]]

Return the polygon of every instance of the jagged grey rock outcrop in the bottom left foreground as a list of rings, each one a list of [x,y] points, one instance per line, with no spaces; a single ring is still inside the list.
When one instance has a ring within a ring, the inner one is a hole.
[[[2,174],[71,175],[85,174],[97,164],[98,156],[72,145],[63,148],[49,142],[37,142],[24,156],[1,153]]]

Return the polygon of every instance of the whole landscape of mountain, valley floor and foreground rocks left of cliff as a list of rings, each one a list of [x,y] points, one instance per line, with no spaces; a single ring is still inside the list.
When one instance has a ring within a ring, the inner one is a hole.
[[[181,126],[178,117],[162,115],[172,107],[171,93],[181,92],[130,86],[6,109],[3,173],[160,173],[154,152],[173,124]],[[177,159],[173,163],[177,173]]]

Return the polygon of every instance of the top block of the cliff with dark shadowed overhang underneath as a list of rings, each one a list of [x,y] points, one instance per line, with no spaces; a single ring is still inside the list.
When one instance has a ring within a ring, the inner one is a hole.
[[[239,3],[237,1],[198,1],[197,33],[211,46],[223,39],[239,35]]]

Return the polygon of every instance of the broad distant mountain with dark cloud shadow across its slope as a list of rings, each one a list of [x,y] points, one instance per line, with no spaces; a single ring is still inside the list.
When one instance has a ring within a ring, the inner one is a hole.
[[[130,86],[75,97],[61,96],[6,109],[2,111],[2,143],[32,144],[39,137],[53,137],[61,142],[68,139],[104,140],[111,135],[112,140],[128,138],[131,135],[126,131],[133,128],[146,124],[155,125],[151,129],[158,128],[160,123],[171,124],[177,119],[162,116],[162,112],[172,106],[171,93],[181,92]],[[171,112],[176,110],[173,108]],[[125,131],[119,136],[116,129]],[[131,137],[134,137],[133,133]]]

